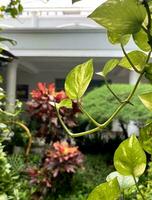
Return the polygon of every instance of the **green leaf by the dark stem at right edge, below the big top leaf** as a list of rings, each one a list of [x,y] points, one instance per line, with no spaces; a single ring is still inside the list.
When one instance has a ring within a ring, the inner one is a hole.
[[[133,39],[136,45],[143,51],[151,50],[151,47],[148,44],[148,36],[143,29],[141,29],[138,33],[133,34]]]

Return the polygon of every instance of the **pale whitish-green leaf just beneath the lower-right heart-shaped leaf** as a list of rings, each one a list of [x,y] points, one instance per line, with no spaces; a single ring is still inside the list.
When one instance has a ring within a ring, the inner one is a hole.
[[[126,188],[129,188],[133,185],[135,185],[135,181],[134,181],[134,178],[133,176],[123,176],[121,175],[119,172],[115,171],[115,172],[111,172],[106,180],[107,181],[110,181],[114,178],[117,178],[118,180],[118,183],[119,183],[119,186],[122,190],[126,189]],[[136,177],[136,181],[138,182],[138,177]]]

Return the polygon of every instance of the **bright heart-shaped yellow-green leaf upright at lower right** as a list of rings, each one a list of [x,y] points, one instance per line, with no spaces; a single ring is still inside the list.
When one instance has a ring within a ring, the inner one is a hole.
[[[124,175],[138,177],[146,168],[146,155],[135,135],[123,141],[114,154],[114,166]]]

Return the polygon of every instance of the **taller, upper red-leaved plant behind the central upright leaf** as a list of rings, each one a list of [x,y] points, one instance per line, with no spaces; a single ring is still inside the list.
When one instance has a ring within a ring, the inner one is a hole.
[[[46,137],[47,141],[57,141],[63,138],[63,130],[58,121],[54,102],[59,103],[67,96],[63,90],[56,92],[55,84],[37,84],[37,89],[31,92],[32,100],[27,102],[27,110],[30,114],[30,121],[37,123],[36,136]],[[53,103],[51,103],[53,102]],[[73,128],[76,126],[76,113],[79,112],[77,102],[73,101],[73,108],[61,108],[60,113],[65,124]]]

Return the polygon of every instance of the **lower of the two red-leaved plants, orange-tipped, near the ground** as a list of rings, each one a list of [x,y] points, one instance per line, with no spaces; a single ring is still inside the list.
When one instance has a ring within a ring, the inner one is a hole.
[[[83,155],[78,147],[66,141],[57,141],[45,152],[40,166],[28,168],[27,173],[31,184],[36,185],[38,192],[44,195],[50,189],[56,191],[59,186],[69,185],[72,174],[82,167]]]

